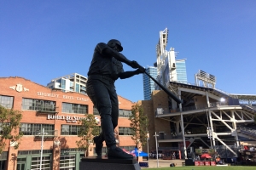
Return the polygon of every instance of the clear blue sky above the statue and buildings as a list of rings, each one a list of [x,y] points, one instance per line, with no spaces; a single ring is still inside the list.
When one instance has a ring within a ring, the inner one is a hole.
[[[44,86],[74,72],[87,77],[96,43],[111,38],[147,67],[166,27],[167,49],[187,59],[188,82],[202,70],[217,77],[219,89],[256,94],[255,0],[0,1],[0,77]],[[141,100],[143,76],[118,80],[116,88],[125,99]]]

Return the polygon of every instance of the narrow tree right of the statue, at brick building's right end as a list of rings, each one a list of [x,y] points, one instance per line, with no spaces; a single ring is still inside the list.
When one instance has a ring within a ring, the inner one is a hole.
[[[139,142],[144,146],[147,144],[148,138],[148,116],[144,114],[142,105],[132,105],[129,120],[131,121],[131,139],[134,140],[137,146]]]

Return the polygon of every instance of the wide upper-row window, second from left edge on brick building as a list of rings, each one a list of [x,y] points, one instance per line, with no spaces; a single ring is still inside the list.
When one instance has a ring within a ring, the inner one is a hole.
[[[22,110],[55,111],[55,101],[42,99],[22,99]]]

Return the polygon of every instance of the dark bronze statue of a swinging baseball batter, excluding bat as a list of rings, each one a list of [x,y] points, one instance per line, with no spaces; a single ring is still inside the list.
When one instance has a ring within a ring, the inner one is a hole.
[[[145,72],[145,69],[125,58],[119,53],[123,50],[121,42],[116,39],[108,43],[100,42],[96,45],[88,71],[86,91],[101,116],[102,132],[94,137],[97,156],[102,156],[102,142],[108,148],[108,157],[129,159],[131,154],[125,153],[116,146],[113,130],[118,125],[119,101],[114,82],[120,78],[125,79]],[[122,63],[130,65],[135,71],[124,71]]]

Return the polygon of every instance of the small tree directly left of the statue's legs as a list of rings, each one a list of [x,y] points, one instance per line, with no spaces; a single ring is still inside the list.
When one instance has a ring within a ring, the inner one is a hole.
[[[93,141],[93,137],[98,135],[101,129],[97,126],[98,122],[96,121],[96,117],[92,114],[86,114],[85,118],[81,119],[79,123],[82,125],[78,134],[81,139],[76,141],[76,143],[80,149],[84,149],[86,156],[90,143]]]

